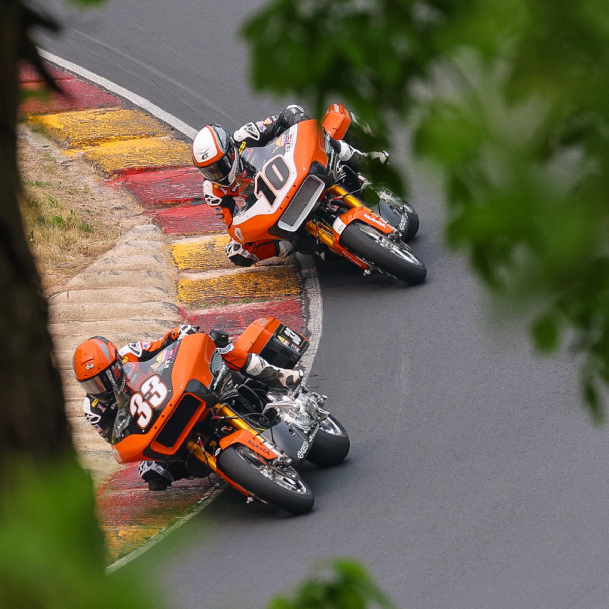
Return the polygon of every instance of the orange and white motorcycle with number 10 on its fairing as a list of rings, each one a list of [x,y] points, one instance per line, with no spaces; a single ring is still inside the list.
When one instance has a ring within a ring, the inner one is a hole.
[[[333,252],[365,274],[421,283],[427,270],[405,242],[418,230],[416,212],[387,189],[373,189],[331,146],[327,135],[343,138],[353,122],[333,104],[321,124],[303,121],[267,146],[245,149],[254,177],[228,231],[241,243],[289,239],[300,252]],[[374,192],[376,211],[359,196],[366,191]]]

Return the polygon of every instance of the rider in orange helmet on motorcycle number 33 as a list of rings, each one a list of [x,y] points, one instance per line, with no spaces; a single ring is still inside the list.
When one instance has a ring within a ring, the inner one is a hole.
[[[93,337],[80,343],[74,352],[74,373],[86,391],[83,410],[86,420],[93,425],[106,442],[111,442],[114,419],[117,414],[115,392],[124,392],[131,362],[148,361],[172,342],[189,334],[196,334],[199,326],[182,325],[170,330],[161,339],[152,342],[132,342],[117,350],[103,337]],[[286,370],[270,365],[256,354],[247,353],[228,339],[228,334],[212,330],[209,337],[231,370],[261,379],[269,385],[296,387],[302,371]],[[95,373],[93,376],[88,371]],[[150,490],[165,490],[172,481],[188,477],[185,463],[142,461],[139,475],[148,482]]]

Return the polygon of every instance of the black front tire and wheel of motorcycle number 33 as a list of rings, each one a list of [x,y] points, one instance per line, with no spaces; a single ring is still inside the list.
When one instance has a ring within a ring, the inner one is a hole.
[[[280,510],[304,514],[313,507],[313,493],[293,467],[273,465],[245,445],[228,446],[218,466],[240,487]]]

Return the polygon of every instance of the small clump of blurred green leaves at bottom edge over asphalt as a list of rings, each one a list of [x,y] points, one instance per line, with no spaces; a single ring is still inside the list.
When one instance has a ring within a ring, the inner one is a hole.
[[[352,560],[335,560],[332,577],[321,572],[306,580],[291,598],[277,596],[267,609],[392,609],[393,604],[379,590],[370,574]]]

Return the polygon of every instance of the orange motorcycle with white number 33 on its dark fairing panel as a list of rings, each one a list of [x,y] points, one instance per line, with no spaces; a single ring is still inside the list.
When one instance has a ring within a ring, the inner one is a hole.
[[[256,320],[237,344],[271,364],[293,368],[305,336],[273,317]],[[185,462],[193,476],[215,473],[248,498],[287,512],[311,509],[297,468],[342,462],[349,438],[325,409],[326,396],[301,384],[269,389],[231,371],[206,334],[177,340],[151,361],[124,364],[112,451],[119,463]]]

